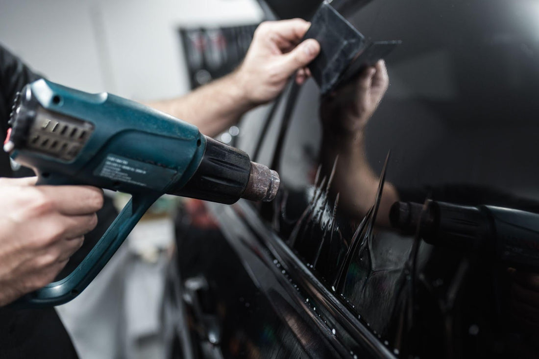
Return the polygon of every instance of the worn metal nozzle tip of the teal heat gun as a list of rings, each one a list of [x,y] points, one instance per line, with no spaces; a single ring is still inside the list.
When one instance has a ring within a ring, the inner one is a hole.
[[[271,202],[277,196],[281,180],[279,174],[267,166],[251,162],[249,182],[241,198],[250,201]]]

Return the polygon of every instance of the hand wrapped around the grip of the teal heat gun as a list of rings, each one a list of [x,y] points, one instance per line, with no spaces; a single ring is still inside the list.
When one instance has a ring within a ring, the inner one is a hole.
[[[97,224],[100,189],[0,178],[0,306],[49,284]]]

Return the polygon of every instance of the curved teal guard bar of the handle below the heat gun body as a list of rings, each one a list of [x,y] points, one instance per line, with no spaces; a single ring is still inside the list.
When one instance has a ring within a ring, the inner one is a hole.
[[[24,295],[10,306],[41,308],[64,304],[81,293],[107,264],[140,218],[160,195],[133,195],[98,243],[64,279]]]

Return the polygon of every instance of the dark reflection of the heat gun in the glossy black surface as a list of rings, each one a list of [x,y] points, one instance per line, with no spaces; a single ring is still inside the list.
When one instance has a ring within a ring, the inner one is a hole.
[[[427,243],[458,249],[487,249],[506,264],[539,270],[539,214],[490,205],[466,206],[439,201],[425,205],[395,202],[391,225],[418,233]]]

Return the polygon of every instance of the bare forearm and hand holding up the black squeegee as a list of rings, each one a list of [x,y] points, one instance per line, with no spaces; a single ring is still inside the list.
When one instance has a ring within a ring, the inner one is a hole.
[[[245,112],[274,99],[296,71],[296,81],[305,81],[309,72],[304,67],[320,52],[314,39],[299,44],[309,26],[302,19],[264,22],[236,71],[180,98],[147,105],[215,136]]]

